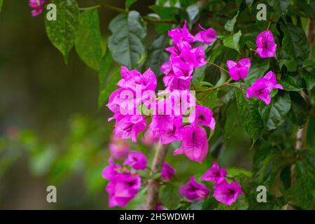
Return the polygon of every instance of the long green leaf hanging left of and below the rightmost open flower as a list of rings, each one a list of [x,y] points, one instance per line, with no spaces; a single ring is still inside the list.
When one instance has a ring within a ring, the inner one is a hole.
[[[258,111],[259,101],[253,98],[246,99],[242,90],[236,89],[237,109],[239,111],[239,120],[244,130],[255,142],[262,134],[264,127]]]

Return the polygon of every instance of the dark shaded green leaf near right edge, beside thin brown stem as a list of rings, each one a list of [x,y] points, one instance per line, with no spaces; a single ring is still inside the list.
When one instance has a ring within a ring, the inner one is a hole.
[[[305,102],[304,98],[297,92],[290,92],[290,99],[292,104],[290,118],[293,123],[302,127],[302,125],[307,122],[307,102]]]

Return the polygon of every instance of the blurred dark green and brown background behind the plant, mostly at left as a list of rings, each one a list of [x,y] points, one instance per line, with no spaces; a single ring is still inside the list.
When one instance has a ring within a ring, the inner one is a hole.
[[[79,6],[94,6],[88,0]],[[124,7],[125,1],[104,1]],[[153,0],[132,6],[151,13]],[[102,169],[110,153],[111,113],[98,107],[97,72],[85,66],[75,50],[64,64],[45,34],[43,15],[32,18],[26,0],[4,1],[0,16],[0,209],[108,209]],[[102,35],[118,13],[100,9]],[[156,37],[148,25],[148,43]],[[229,111],[231,119],[237,109]],[[237,120],[236,120],[237,122]],[[220,132],[219,127],[216,132]],[[228,139],[211,139],[202,165],[184,155],[167,162],[177,169],[176,180],[200,176],[214,158],[223,167],[251,170],[251,141],[239,124]],[[151,160],[155,147],[132,144]],[[234,169],[235,170],[235,169]],[[57,187],[57,203],[46,202],[46,188]],[[144,204],[139,193],[128,209]],[[120,208],[116,208],[120,209]]]

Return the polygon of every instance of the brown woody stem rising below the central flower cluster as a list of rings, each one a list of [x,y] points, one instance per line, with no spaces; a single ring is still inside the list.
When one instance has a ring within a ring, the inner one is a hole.
[[[163,162],[167,155],[168,145],[158,144],[151,167],[151,175],[162,169]],[[148,210],[155,210],[158,206],[160,183],[158,179],[151,179],[148,181],[146,208]]]

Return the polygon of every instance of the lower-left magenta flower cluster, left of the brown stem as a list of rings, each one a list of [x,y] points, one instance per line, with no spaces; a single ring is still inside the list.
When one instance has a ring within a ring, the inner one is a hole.
[[[109,180],[106,186],[106,191],[109,193],[109,207],[125,207],[141,187],[141,177],[134,170],[146,169],[146,156],[137,151],[129,153],[123,162],[123,165],[130,166],[129,169],[115,164],[113,158],[109,158],[109,164],[102,173],[104,179]]]

